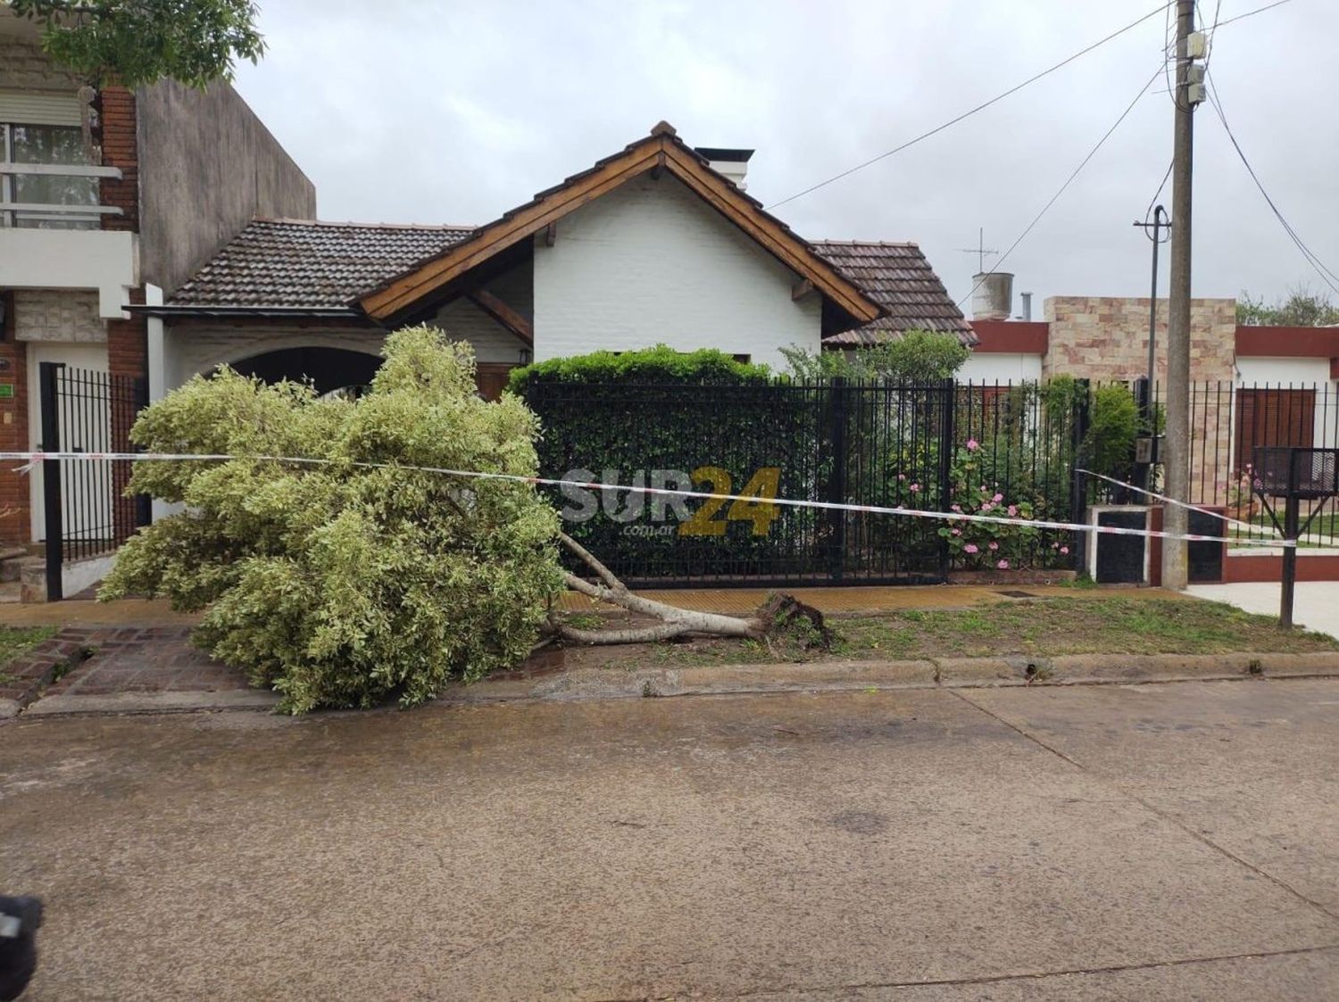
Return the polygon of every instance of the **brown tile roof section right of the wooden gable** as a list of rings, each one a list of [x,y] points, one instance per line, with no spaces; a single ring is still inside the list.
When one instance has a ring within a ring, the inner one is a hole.
[[[857,346],[896,338],[904,330],[956,333],[965,345],[976,336],[916,243],[814,241],[814,250],[860,285],[888,316],[853,330],[829,334],[825,345]]]

